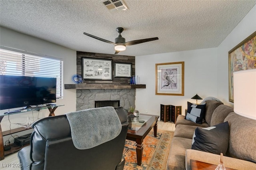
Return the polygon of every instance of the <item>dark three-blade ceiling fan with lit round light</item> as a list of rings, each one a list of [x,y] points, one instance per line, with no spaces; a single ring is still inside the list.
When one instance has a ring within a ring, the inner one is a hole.
[[[124,51],[126,49],[126,46],[128,46],[128,45],[136,45],[136,44],[139,44],[139,43],[158,40],[158,37],[154,37],[154,38],[146,38],[146,39],[141,39],[141,40],[133,40],[133,41],[130,41],[130,42],[125,42],[125,38],[123,38],[121,36],[121,33],[124,31],[124,28],[118,27],[118,28],[116,28],[116,31],[119,33],[119,36],[117,38],[115,38],[115,42],[110,42],[108,40],[104,40],[102,38],[93,36],[93,35],[85,33],[85,32],[84,32],[84,35],[90,36],[90,37],[95,38],[97,40],[100,40],[102,42],[112,43],[113,45],[115,45],[115,50],[116,50],[115,54],[119,53],[120,51]]]

